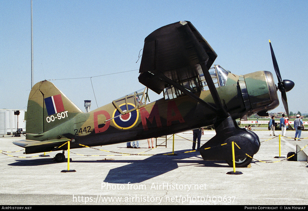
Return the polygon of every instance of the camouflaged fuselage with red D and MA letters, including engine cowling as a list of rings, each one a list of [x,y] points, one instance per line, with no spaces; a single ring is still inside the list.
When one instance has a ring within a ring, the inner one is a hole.
[[[217,87],[217,92],[222,104],[234,120],[244,115],[268,111],[279,105],[273,76],[267,71],[258,71],[244,76],[229,73],[224,86]],[[205,102],[214,105],[209,90],[195,94]],[[162,98],[151,103],[146,101],[142,103],[140,100],[137,101],[136,97],[127,95],[123,99],[120,98],[89,113],[80,112],[40,136],[34,137],[29,134],[27,139],[45,141],[62,136],[87,146],[108,145],[213,125],[216,117],[213,110],[184,94],[173,99]],[[57,119],[57,116],[54,114],[54,117],[46,117],[44,124],[50,123],[51,119]],[[78,147],[81,146],[71,145],[71,148]],[[38,151],[45,151],[39,148]]]

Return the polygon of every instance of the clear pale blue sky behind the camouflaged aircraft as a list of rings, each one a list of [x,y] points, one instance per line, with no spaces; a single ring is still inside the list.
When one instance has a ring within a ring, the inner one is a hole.
[[[143,87],[136,61],[144,38],[161,26],[187,20],[217,53],[214,64],[237,75],[274,74],[270,39],[282,79],[295,82],[287,93],[289,110],[308,113],[307,8],[307,1],[33,0],[34,83],[136,70],[92,78],[98,105],[110,103]],[[2,0],[0,23],[0,108],[26,109],[30,0]],[[90,78],[51,82],[80,109],[83,100],[92,100],[91,109],[97,108]],[[280,101],[274,111],[281,110]]]

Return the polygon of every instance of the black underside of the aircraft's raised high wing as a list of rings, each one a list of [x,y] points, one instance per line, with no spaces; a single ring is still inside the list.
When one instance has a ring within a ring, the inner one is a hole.
[[[217,54],[188,21],[163,26],[144,40],[139,82],[157,94],[167,85],[164,74],[175,83],[202,74],[201,62],[209,69]]]

